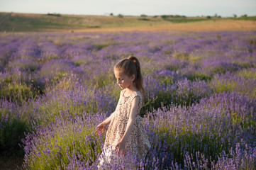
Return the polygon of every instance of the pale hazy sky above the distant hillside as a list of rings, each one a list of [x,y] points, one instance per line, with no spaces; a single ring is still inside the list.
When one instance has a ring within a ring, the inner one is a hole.
[[[0,12],[82,15],[256,16],[256,0],[0,0]]]

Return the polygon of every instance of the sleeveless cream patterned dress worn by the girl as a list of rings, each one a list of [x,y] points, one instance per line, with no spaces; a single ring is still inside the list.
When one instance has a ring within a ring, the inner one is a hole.
[[[117,142],[119,142],[119,140],[123,137],[124,132],[126,131],[126,126],[130,115],[131,103],[133,98],[136,96],[140,97],[140,102],[137,115],[130,132],[130,136],[126,142],[126,152],[130,152],[131,154],[135,155],[135,157],[140,159],[143,157],[143,154],[145,155],[151,147],[148,136],[146,135],[143,125],[141,124],[142,118],[139,115],[142,105],[142,96],[139,91],[134,91],[133,94],[130,94],[129,96],[124,96],[125,92],[126,89],[121,91],[118,105],[116,106],[116,111],[112,113],[113,118],[111,119],[111,123],[109,124],[108,130],[106,132],[106,140],[104,143],[106,160],[108,160],[107,157],[109,154],[111,154],[111,152],[113,152]],[[101,163],[102,162],[104,162],[104,158],[101,159]]]

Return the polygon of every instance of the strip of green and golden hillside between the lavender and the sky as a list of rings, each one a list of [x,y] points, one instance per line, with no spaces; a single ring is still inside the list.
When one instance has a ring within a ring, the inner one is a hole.
[[[1,32],[256,30],[255,17],[78,16],[0,13]]]

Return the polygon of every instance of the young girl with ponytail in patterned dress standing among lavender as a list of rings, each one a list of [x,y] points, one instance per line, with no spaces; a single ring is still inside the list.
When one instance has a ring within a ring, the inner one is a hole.
[[[141,94],[145,92],[140,62],[137,57],[130,56],[118,62],[113,71],[117,84],[123,90],[116,111],[95,129],[96,132],[103,134],[106,125],[110,123],[104,143],[105,157],[101,154],[100,164],[104,162],[104,159],[109,161],[109,156],[115,152],[122,156],[130,152],[140,159],[150,149],[150,142],[139,116],[142,104]]]

